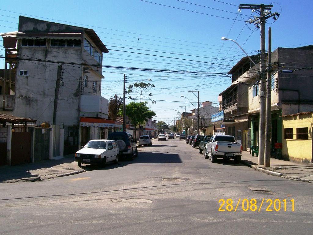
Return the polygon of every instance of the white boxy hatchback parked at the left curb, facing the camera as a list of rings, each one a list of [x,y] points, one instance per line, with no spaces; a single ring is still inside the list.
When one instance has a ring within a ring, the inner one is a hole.
[[[119,149],[114,140],[111,139],[93,139],[75,153],[75,160],[78,166],[82,163],[101,164],[119,161]]]

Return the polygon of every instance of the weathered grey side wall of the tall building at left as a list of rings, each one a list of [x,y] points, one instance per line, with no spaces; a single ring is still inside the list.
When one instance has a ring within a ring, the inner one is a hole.
[[[81,48],[21,47],[19,57],[80,63]],[[64,86],[59,90],[56,124],[73,125],[78,120],[82,68],[63,65],[63,69]],[[58,64],[20,60],[17,70],[28,70],[28,76],[17,74],[13,115],[52,122]]]

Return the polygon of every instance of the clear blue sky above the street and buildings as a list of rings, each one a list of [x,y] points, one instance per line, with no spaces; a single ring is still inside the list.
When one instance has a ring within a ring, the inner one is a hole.
[[[272,18],[267,21],[266,48],[268,27],[272,27],[272,50],[313,44],[313,1],[295,0],[2,0],[0,32],[17,30],[19,15],[87,27],[95,30],[110,51],[104,54],[103,65],[181,71],[103,69],[102,96],[107,99],[115,93],[122,96],[124,73],[127,85],[152,79],[150,83],[155,87],[149,93],[156,104],[147,101],[157,114],[156,120],[171,124],[178,116],[175,110],[185,110],[179,106],[186,106],[187,112],[193,108],[181,96],[197,106],[197,97],[188,91],[199,90],[200,102],[211,101],[218,106],[218,94],[230,86],[227,76],[194,74],[227,73],[244,56],[236,44],[222,41],[221,37],[235,39],[249,55],[258,53],[259,29],[244,22],[257,14],[251,10],[238,13],[240,3],[272,4],[272,12],[280,13],[275,22]],[[0,68],[3,67],[1,59]]]

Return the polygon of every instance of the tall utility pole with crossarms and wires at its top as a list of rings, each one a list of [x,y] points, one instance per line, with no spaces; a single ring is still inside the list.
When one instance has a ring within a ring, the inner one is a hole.
[[[266,107],[266,90],[265,90],[265,22],[266,19],[275,15],[279,16],[278,13],[271,13],[273,5],[264,4],[240,4],[239,9],[251,9],[254,12],[259,13],[259,17],[249,19],[247,22],[256,25],[260,28],[261,36],[261,61],[260,61],[260,81],[259,81],[259,99],[260,99],[260,122],[259,122],[259,165],[264,165],[264,149],[265,149],[265,107]],[[276,19],[275,19],[276,20]]]

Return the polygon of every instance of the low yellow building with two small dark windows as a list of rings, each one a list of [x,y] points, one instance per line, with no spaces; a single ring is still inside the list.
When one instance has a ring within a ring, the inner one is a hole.
[[[313,163],[313,111],[281,116],[285,159]]]

